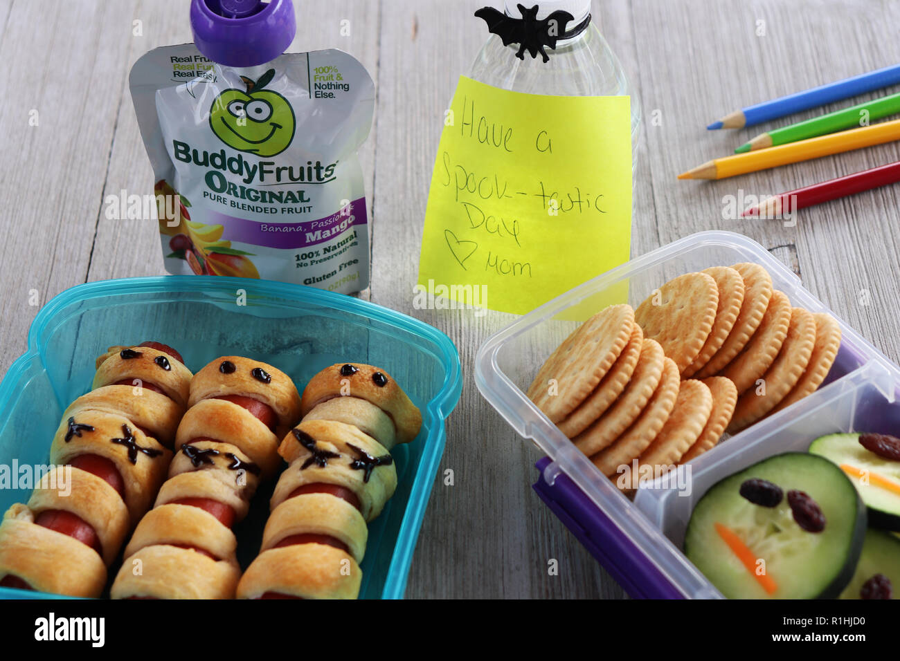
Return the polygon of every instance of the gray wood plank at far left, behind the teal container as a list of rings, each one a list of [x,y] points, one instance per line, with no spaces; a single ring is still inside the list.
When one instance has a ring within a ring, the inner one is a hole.
[[[40,306],[85,281],[126,72],[128,41],[113,34],[131,4],[31,0],[0,10],[0,371],[24,352]]]

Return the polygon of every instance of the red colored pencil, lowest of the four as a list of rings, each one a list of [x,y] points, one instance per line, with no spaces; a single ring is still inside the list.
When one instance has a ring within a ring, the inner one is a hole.
[[[783,213],[805,209],[815,204],[855,195],[858,192],[871,191],[873,188],[897,182],[900,182],[900,161],[848,174],[827,182],[814,183],[812,186],[798,188],[796,191],[782,192],[780,195],[762,201],[758,206],[751,207],[741,215],[779,218]]]

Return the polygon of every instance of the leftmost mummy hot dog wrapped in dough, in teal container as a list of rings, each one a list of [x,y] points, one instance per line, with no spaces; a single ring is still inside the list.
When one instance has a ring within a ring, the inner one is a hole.
[[[0,585],[95,597],[106,567],[166,475],[191,372],[165,344],[111,347],[94,390],[66,409],[50,446],[57,468],[0,524]],[[55,485],[71,467],[70,493]]]

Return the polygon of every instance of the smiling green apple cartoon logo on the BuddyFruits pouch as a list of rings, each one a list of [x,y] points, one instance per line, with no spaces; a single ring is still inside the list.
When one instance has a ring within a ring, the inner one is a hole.
[[[229,88],[210,109],[210,128],[229,147],[257,156],[281,154],[293,140],[293,108],[281,94],[263,89],[275,77],[269,69],[256,82],[240,76],[247,92]]]

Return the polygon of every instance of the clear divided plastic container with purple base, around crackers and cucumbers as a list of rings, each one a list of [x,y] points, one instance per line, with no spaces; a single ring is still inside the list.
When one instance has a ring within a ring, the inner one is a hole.
[[[794,306],[827,312],[842,328],[841,349],[818,390],[719,442],[689,463],[689,489],[657,481],[634,502],[577,450],[526,397],[538,368],[578,322],[610,303],[635,308],[682,273],[754,262]],[[527,359],[525,358],[527,357]],[[758,243],[732,232],[700,232],[599,275],[491,335],[475,358],[475,382],[492,406],[547,456],[535,490],[628,594],[722,598],[681,551],[690,514],[718,480],[785,451],[806,451],[835,432],[897,433],[900,368],[847,326]]]

